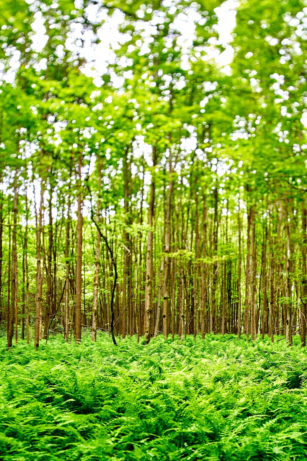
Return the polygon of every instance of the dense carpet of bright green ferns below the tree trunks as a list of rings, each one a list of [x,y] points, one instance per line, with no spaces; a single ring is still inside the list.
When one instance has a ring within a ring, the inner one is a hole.
[[[0,339],[0,459],[306,460],[307,351],[268,338]]]

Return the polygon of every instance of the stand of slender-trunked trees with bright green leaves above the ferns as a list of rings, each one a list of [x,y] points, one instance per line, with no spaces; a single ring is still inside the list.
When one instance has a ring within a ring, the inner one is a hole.
[[[305,5],[0,2],[8,348],[87,327],[306,345]]]

